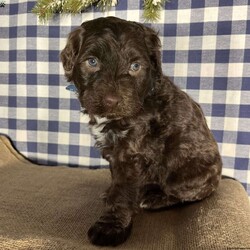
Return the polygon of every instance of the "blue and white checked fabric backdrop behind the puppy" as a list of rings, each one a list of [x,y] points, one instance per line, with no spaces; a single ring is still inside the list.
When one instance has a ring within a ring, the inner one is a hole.
[[[59,53],[83,21],[113,15],[143,22],[143,1],[120,0],[108,13],[92,9],[46,25],[31,13],[34,5],[11,0],[0,7],[0,132],[40,164],[107,166],[75,94],[65,90]],[[201,104],[223,173],[250,195],[249,6],[249,0],[171,0],[149,25],[159,31],[164,73]]]

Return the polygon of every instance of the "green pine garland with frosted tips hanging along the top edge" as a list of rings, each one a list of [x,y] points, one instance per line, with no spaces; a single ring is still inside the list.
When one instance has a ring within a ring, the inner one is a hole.
[[[160,18],[160,11],[168,0],[143,0],[144,14],[147,21],[157,21]],[[91,6],[96,6],[102,11],[109,10],[116,6],[118,0],[37,0],[32,12],[35,13],[39,21],[47,22],[55,14],[79,14],[86,11]]]

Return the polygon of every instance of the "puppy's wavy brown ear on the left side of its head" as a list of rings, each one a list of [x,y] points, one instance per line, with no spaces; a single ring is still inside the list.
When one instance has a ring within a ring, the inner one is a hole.
[[[72,81],[72,72],[82,46],[83,33],[83,27],[79,27],[72,31],[68,36],[65,48],[61,52],[61,61],[65,71],[65,76],[69,82]]]

